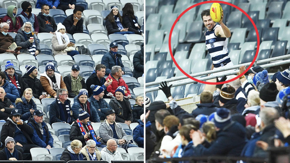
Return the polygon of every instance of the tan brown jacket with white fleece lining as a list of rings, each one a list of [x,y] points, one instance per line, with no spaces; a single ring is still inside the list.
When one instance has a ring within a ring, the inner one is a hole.
[[[40,83],[44,89],[44,91],[46,91],[48,94],[50,94],[52,97],[56,96],[56,92],[52,89],[52,81],[50,80],[50,78],[47,76],[46,72],[40,74]],[[58,88],[66,88],[66,84],[63,82],[63,77],[59,74],[54,72],[54,76],[56,79],[56,85],[58,86]]]

